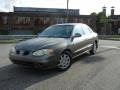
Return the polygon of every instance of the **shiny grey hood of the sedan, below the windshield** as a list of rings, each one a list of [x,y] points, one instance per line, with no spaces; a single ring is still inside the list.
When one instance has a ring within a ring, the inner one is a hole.
[[[55,48],[56,45],[65,44],[65,38],[35,38],[27,41],[22,41],[16,44],[16,49],[22,50],[38,50],[44,48]]]

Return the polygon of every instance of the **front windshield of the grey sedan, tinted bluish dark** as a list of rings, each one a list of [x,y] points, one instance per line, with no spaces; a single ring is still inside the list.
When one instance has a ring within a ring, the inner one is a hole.
[[[68,38],[71,36],[74,25],[54,25],[38,34],[38,37],[60,37]]]

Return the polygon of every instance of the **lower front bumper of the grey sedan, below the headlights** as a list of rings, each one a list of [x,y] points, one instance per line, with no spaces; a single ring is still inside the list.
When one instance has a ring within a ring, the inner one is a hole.
[[[22,56],[10,53],[9,58],[14,64],[32,66],[42,69],[56,67],[59,62],[57,55],[44,55],[38,57],[32,55]]]

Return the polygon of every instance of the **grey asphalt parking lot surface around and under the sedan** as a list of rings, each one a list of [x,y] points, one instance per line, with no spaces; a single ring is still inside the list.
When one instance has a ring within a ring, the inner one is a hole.
[[[120,41],[99,41],[95,55],[77,57],[65,72],[13,65],[0,44],[0,90],[119,90]]]

